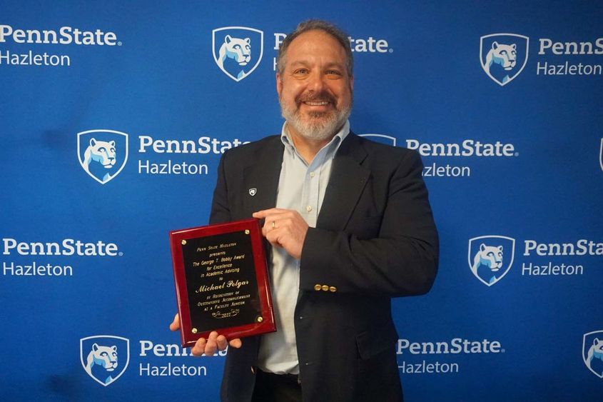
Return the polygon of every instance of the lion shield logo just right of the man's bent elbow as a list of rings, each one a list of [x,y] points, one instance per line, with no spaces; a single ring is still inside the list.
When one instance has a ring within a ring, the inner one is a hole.
[[[515,239],[479,236],[469,240],[469,268],[477,279],[492,286],[507,275],[515,258]]]

